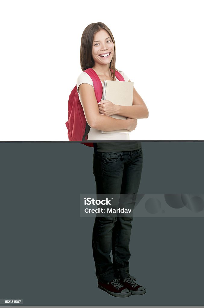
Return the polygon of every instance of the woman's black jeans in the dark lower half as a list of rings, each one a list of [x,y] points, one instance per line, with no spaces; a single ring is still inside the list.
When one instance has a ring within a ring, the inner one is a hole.
[[[127,152],[95,152],[93,173],[97,194],[137,194],[143,154],[142,148]],[[96,217],[92,247],[96,276],[101,282],[127,278],[132,217]],[[110,252],[112,250],[113,262]]]

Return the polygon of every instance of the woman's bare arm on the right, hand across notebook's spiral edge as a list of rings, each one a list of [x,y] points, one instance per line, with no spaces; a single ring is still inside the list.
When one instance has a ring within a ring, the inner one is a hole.
[[[130,82],[130,79],[128,80]],[[131,119],[144,119],[148,118],[148,109],[144,100],[133,88],[132,106],[114,105],[108,100],[98,103],[99,113],[103,115],[123,115]]]

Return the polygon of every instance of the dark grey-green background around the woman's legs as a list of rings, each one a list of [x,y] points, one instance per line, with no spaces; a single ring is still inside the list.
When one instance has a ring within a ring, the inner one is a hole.
[[[143,142],[139,193],[201,194],[202,142]],[[97,287],[94,218],[79,194],[95,193],[93,148],[69,142],[0,143],[0,298],[24,305],[202,305],[203,218],[134,218],[131,275],[147,293],[114,298]]]

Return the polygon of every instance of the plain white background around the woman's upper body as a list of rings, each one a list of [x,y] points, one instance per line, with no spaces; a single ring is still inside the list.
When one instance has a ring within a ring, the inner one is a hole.
[[[203,1],[0,1],[0,140],[68,140],[81,35],[103,22],[149,118],[132,140],[204,139]]]

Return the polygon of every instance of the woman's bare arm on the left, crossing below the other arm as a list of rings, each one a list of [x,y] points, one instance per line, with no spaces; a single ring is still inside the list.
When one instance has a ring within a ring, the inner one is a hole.
[[[100,114],[94,88],[90,84],[81,83],[78,90],[86,122],[90,127],[106,132],[117,129],[127,129],[130,131],[135,129],[137,125],[136,119],[118,120]]]

